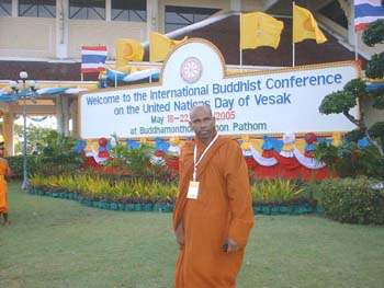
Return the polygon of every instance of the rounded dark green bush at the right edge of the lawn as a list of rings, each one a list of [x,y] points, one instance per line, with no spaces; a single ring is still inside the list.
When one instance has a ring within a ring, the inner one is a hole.
[[[320,184],[320,205],[340,222],[384,224],[384,188],[379,186],[365,176],[327,178]]]

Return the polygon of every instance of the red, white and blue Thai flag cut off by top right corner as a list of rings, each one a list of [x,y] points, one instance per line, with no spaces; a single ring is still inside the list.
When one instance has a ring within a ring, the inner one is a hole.
[[[379,19],[384,20],[383,0],[354,0],[354,31],[364,30]]]

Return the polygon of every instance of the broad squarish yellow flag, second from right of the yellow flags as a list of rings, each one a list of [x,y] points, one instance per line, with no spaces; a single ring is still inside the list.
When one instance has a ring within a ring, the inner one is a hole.
[[[279,47],[284,23],[262,12],[240,14],[240,49]]]

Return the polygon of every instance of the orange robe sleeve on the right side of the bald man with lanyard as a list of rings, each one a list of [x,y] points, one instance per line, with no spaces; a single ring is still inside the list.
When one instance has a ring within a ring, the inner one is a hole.
[[[230,164],[226,171],[226,182],[233,216],[228,237],[233,238],[240,247],[244,247],[255,222],[248,168],[237,142],[230,143],[227,157],[229,159],[226,161]]]

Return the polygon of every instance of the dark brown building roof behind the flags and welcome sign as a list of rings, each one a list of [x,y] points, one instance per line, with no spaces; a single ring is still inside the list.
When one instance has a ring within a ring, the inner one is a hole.
[[[291,67],[292,66],[292,19],[281,18],[284,22],[284,30],[281,35],[278,49],[271,47],[259,47],[257,49],[246,49],[242,51],[242,65],[245,66],[267,66],[267,67]],[[354,60],[354,51],[348,49],[338,38],[323,30],[328,41],[324,44],[316,44],[313,39],[307,39],[295,44],[295,65],[312,65]],[[212,42],[223,54],[227,65],[239,65],[239,16],[229,15],[206,26],[188,31],[179,35],[177,39],[184,36],[189,38],[197,37]],[[148,47],[144,60],[148,61]],[[363,68],[366,60],[361,58]],[[57,61],[22,61],[1,60],[0,79],[18,79],[19,72],[26,70],[29,78],[34,80],[55,81],[80,81],[80,62],[57,62]],[[84,74],[84,81],[98,79],[98,73]]]

